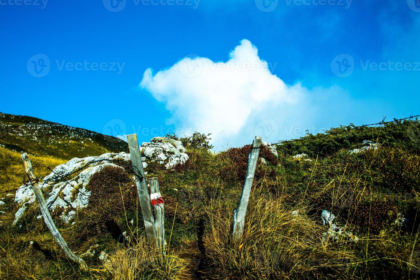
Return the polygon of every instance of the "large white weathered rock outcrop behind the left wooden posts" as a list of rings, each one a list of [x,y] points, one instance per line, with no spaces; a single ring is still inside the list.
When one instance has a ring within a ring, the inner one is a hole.
[[[180,141],[164,137],[155,137],[150,143],[143,143],[143,168],[147,162],[164,164],[167,169],[188,159],[185,148]],[[87,207],[91,190],[89,181],[93,174],[105,166],[115,166],[123,169],[118,163],[126,161],[131,164],[129,153],[105,153],[101,156],[86,158],[73,158],[67,163],[55,167],[53,172],[40,183],[41,189],[46,192],[45,200],[48,208],[54,211],[57,207],[63,211],[60,218],[70,223],[76,215],[74,210]],[[147,174],[147,171],[145,171]],[[73,175],[74,174],[74,175]],[[23,215],[26,207],[35,201],[35,194],[30,186],[22,186],[16,191],[15,202],[21,207],[15,213],[14,224]]]

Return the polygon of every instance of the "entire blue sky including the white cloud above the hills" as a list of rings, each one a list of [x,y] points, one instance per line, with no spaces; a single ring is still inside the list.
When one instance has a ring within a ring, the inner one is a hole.
[[[218,149],[420,113],[419,0],[0,0],[0,23],[4,113]]]

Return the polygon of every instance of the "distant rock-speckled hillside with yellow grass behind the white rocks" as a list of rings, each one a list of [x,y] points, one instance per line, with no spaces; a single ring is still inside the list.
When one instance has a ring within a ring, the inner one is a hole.
[[[34,165],[54,168],[71,158],[128,151],[121,139],[82,128],[33,117],[0,113],[0,192],[16,189],[24,175],[21,153],[28,153]],[[37,169],[38,176],[50,173]]]

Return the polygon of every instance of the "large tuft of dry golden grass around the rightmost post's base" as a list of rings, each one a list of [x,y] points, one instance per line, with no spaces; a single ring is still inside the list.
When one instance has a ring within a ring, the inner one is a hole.
[[[337,242],[324,244],[325,228],[307,218],[305,209],[296,207],[299,215],[294,215],[284,207],[283,197],[265,191],[252,193],[244,235],[232,240],[234,202],[215,203],[208,209],[210,230],[203,238],[208,278],[314,278],[322,272],[343,275],[349,269],[354,259],[351,250],[337,249]]]

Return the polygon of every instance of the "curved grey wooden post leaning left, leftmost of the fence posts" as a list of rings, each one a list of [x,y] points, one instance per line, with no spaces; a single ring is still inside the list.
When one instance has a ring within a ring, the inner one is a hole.
[[[31,182],[32,189],[34,190],[35,197],[37,197],[37,201],[39,203],[39,208],[41,209],[42,217],[44,218],[44,222],[47,225],[47,227],[50,229],[51,234],[53,234],[55,241],[57,241],[58,246],[64,251],[64,254],[66,257],[77,264],[83,272],[88,272],[89,269],[87,268],[86,262],[84,262],[83,259],[80,257],[77,257],[76,254],[73,253],[73,251],[68,248],[66,241],[64,241],[63,237],[61,236],[58,229],[55,227],[53,218],[51,218],[50,212],[48,211],[47,204],[45,203],[44,196],[42,195],[41,188],[39,187],[39,184],[37,182],[37,177],[34,174],[34,170],[32,169],[32,163],[29,160],[29,156],[27,153],[23,153],[22,161],[25,165],[25,171],[26,174],[29,177],[29,181]]]

